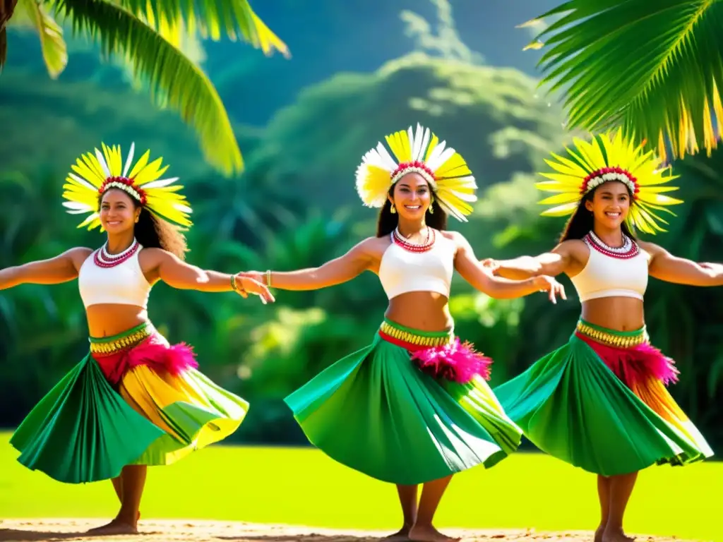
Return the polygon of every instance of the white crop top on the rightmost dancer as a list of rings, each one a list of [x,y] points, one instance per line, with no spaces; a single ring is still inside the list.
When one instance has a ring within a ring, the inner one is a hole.
[[[585,268],[570,278],[580,301],[602,297],[632,297],[642,301],[648,287],[650,254],[638,246],[637,254],[632,257],[609,256],[590,236],[583,241],[590,249],[590,257]]]

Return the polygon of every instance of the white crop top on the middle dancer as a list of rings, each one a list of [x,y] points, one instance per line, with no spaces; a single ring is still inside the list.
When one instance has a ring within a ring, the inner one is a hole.
[[[379,264],[379,280],[391,299],[407,292],[435,292],[450,296],[456,246],[437,234],[426,252],[410,252],[392,240]]]

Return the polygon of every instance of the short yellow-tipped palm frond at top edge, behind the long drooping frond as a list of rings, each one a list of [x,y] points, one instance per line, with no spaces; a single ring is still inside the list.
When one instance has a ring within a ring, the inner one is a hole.
[[[264,54],[279,51],[288,57],[286,43],[254,12],[248,0],[118,0],[130,12],[143,15],[152,27],[157,22],[184,22],[189,33],[220,40],[225,30],[231,40],[243,39]]]

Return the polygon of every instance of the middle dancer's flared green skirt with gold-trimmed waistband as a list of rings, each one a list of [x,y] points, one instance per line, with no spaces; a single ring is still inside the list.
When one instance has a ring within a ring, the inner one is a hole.
[[[383,326],[406,333],[406,341],[452,339],[450,332]],[[288,395],[309,441],[343,465],[404,485],[489,468],[515,451],[521,431],[482,377],[466,383],[433,377],[412,361],[409,348],[375,335],[371,345]]]

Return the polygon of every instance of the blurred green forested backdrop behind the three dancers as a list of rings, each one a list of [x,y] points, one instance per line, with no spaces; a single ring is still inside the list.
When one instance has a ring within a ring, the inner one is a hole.
[[[511,29],[529,17],[510,20],[502,31],[484,14],[495,7],[466,0],[455,3],[452,23],[442,0],[395,7],[377,2],[374,21],[351,3],[304,4],[306,18],[293,11],[301,4],[279,4],[298,17],[275,28],[294,51],[283,69],[280,59],[257,61],[228,44],[204,45],[205,69],[226,101],[247,161],[238,177],[224,178],[205,165],[190,129],[134,93],[123,69],[99,64],[93,51],[71,52],[82,62],[48,82],[30,45],[27,58],[14,49],[0,84],[0,125],[12,126],[12,138],[0,146],[0,267],[100,244],[97,232],[74,228],[60,193],[74,158],[101,140],[124,147],[134,140],[163,155],[168,173],[181,176],[194,206],[188,235],[194,264],[224,271],[314,267],[373,234],[376,214],[359,203],[354,170],[385,134],[416,122],[458,149],[478,179],[480,200],[469,223],[450,223],[478,257],[537,254],[554,246],[562,220],[539,217],[534,173],[571,133],[556,100],[537,90],[539,54],[522,56],[530,34]],[[530,14],[540,10],[538,2],[521,4]],[[554,2],[544,4],[547,9]],[[400,9],[414,13],[401,17]],[[358,25],[350,26],[354,17]],[[323,47],[309,45],[314,27],[304,22],[311,21],[332,29],[313,38]],[[476,30],[480,22],[487,35]],[[416,30],[406,36],[405,25]],[[377,41],[372,30],[381,36]],[[448,38],[440,43],[440,35]],[[257,85],[245,83],[251,74]],[[719,260],[723,152],[687,157],[674,168],[682,175],[685,205],[676,207],[669,233],[647,239],[683,257]],[[552,306],[542,295],[493,300],[455,278],[455,328],[495,359],[493,383],[567,340],[580,309],[567,286],[569,301]],[[234,436],[239,442],[305,442],[282,398],[366,345],[386,306],[369,273],[327,290],[278,292],[277,299],[262,306],[232,293],[174,291],[163,284],[153,290],[150,317],[161,332],[194,345],[205,373],[251,401]],[[714,448],[723,444],[716,401],[723,390],[722,306],[720,288],[651,280],[646,294],[651,337],[682,372],[672,393]],[[86,341],[75,283],[2,291],[0,425],[20,421],[80,360]]]

